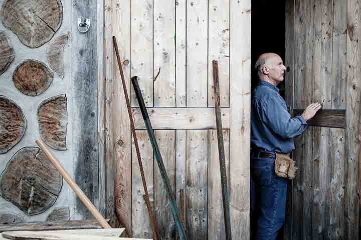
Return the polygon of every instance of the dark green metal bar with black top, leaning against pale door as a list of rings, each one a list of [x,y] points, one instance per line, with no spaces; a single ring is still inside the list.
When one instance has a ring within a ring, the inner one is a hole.
[[[149,120],[148,111],[146,110],[144,99],[142,97],[137,78],[138,78],[137,76],[133,76],[131,78],[131,81],[132,81],[133,87],[134,87],[134,91],[135,91],[135,95],[138,100],[140,111],[141,111],[143,119],[144,119],[145,127],[147,128],[149,139],[150,139],[150,142],[153,147],[153,151],[154,151],[155,159],[158,163],[160,175],[163,179],[164,187],[165,187],[165,190],[169,197],[170,208],[172,210],[173,217],[175,219],[175,224],[178,228],[180,239],[185,240],[185,239],[187,239],[187,236],[186,236],[184,227],[182,225],[182,222],[179,219],[178,210],[177,210],[177,207],[175,205],[175,200],[174,200],[174,192],[169,183],[168,174],[166,172],[164,162],[163,162],[163,159],[162,159],[160,151],[159,151],[158,143],[156,142],[156,138],[155,138],[155,135],[153,132],[153,127],[151,126],[151,123]]]

